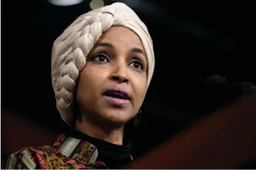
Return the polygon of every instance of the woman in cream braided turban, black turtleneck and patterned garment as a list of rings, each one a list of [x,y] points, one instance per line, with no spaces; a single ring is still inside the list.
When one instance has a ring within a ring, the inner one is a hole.
[[[138,121],[155,65],[147,27],[114,3],[79,16],[54,42],[52,83],[70,132],[21,149],[7,169],[117,169],[130,163],[125,126]]]

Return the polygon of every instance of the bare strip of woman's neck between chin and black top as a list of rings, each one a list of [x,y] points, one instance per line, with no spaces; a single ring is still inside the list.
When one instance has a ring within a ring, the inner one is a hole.
[[[113,144],[123,144],[124,127],[106,130],[106,128],[92,124],[87,121],[87,119],[83,118],[81,122],[76,119],[76,129],[86,135],[92,136],[93,138],[98,138]]]

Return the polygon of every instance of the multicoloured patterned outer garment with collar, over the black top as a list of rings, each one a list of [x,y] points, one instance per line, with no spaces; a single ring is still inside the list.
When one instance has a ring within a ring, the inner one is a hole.
[[[108,169],[86,141],[61,134],[53,147],[23,148],[10,155],[5,169]]]

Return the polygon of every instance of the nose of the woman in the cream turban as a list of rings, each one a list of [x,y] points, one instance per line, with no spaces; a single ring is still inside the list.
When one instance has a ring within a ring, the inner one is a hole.
[[[111,74],[111,80],[118,83],[128,83],[130,79],[126,73],[126,69],[125,64],[115,66],[114,71]]]

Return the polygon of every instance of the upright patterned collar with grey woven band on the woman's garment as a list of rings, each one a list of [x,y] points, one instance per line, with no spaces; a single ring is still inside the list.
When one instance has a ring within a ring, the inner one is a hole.
[[[71,159],[81,161],[84,165],[95,163],[98,157],[98,151],[93,144],[64,134],[59,135],[53,148]]]

